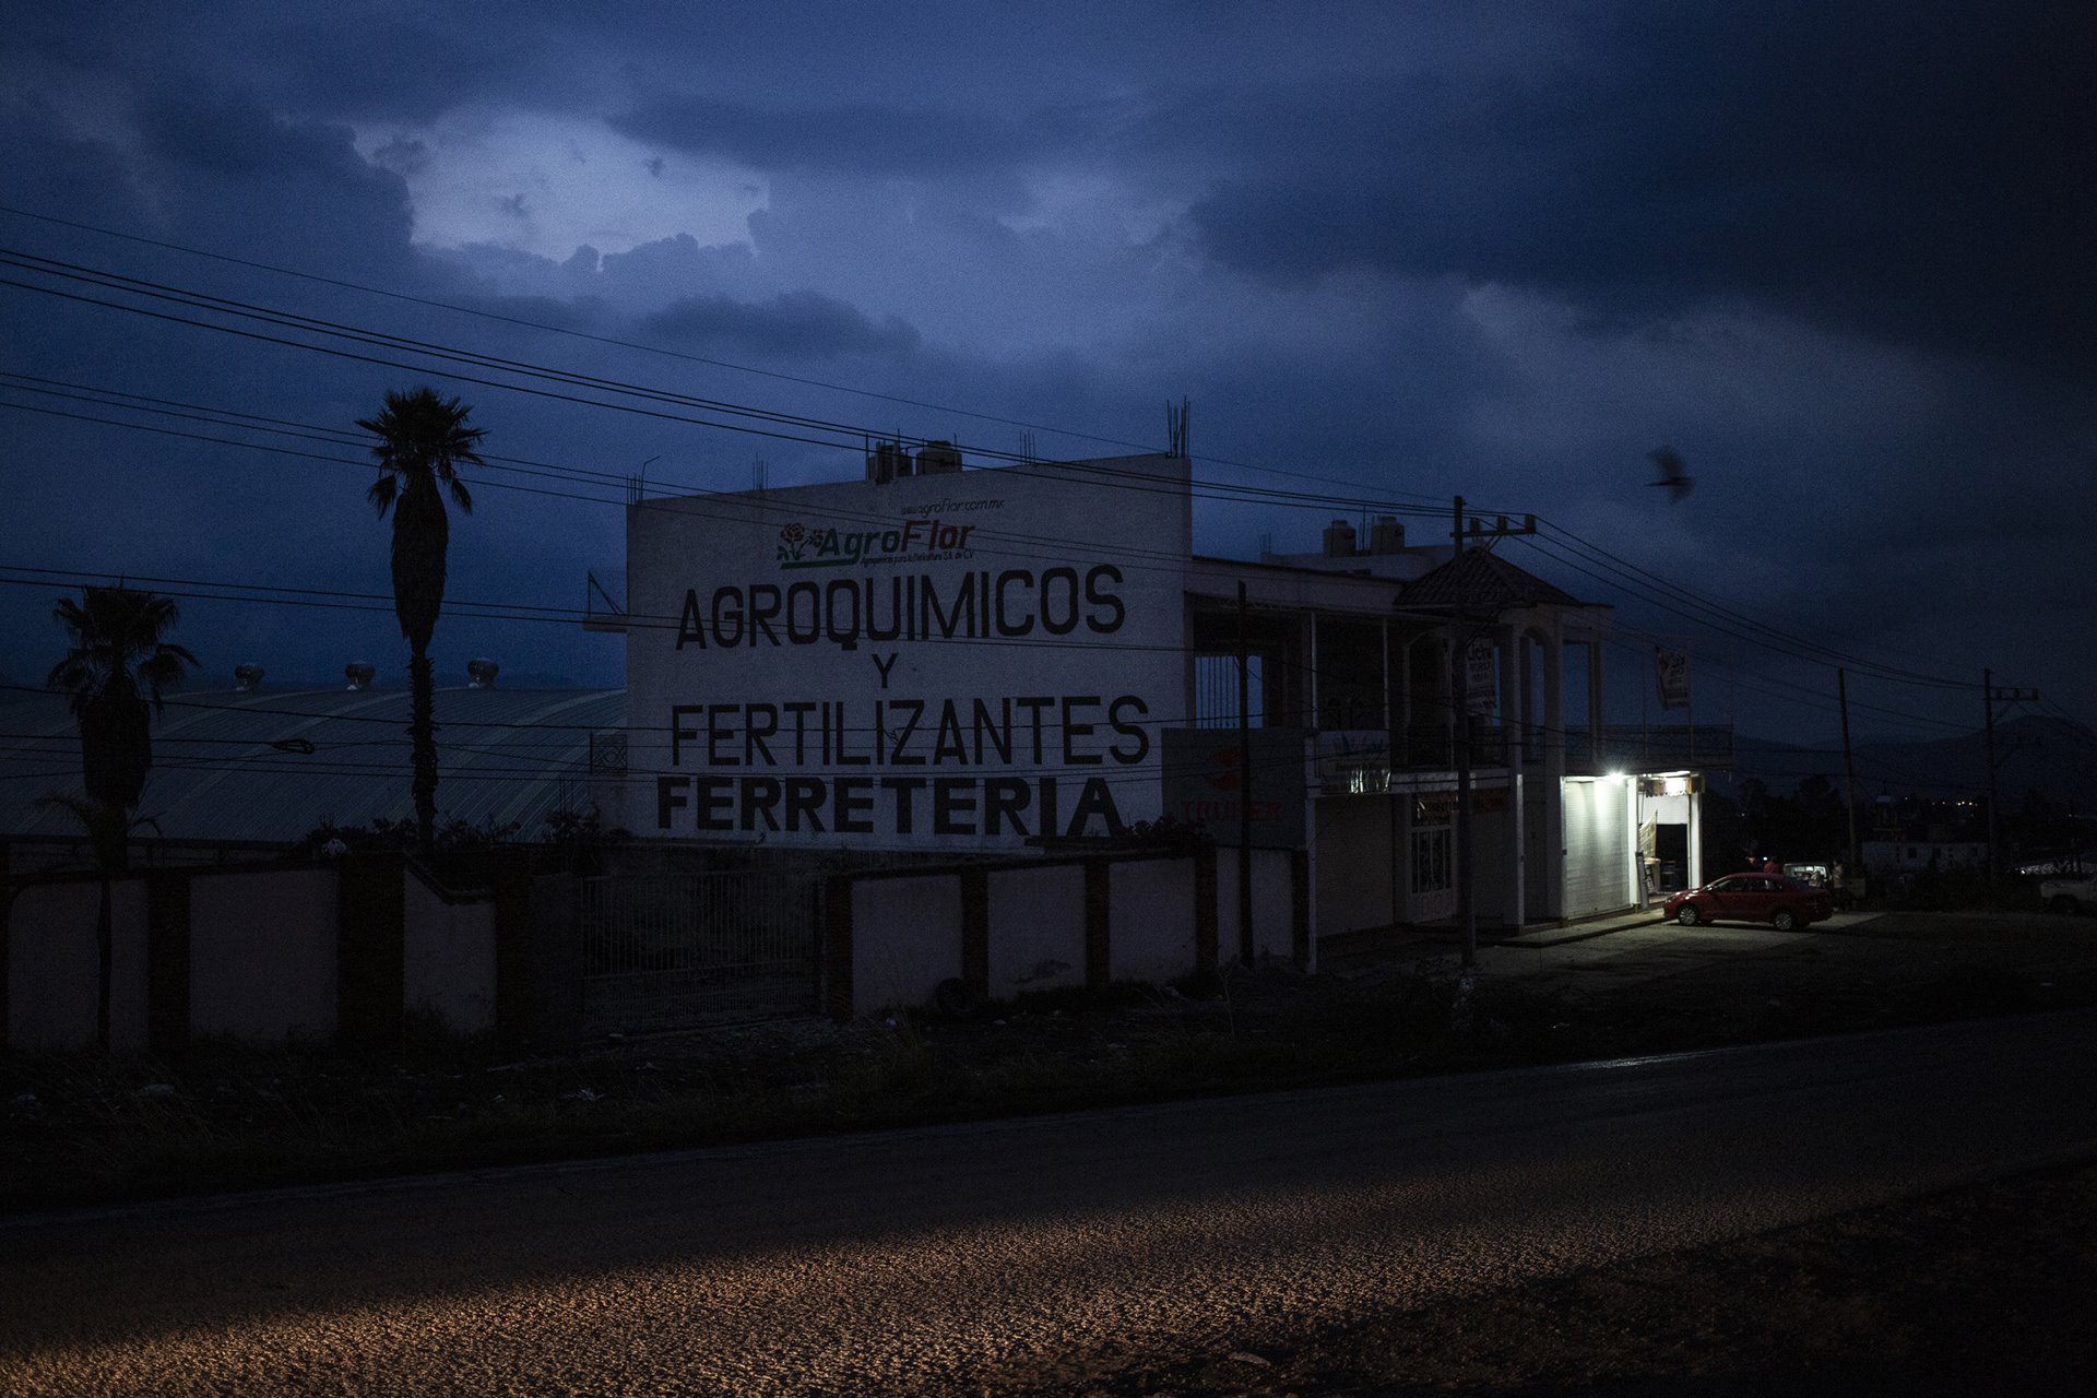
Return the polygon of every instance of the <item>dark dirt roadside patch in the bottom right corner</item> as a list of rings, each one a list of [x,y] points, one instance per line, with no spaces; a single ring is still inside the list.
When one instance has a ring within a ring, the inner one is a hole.
[[[1038,1394],[2089,1394],[2097,1165]]]

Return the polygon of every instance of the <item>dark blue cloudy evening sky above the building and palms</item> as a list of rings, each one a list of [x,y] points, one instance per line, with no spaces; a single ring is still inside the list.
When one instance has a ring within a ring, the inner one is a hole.
[[[1034,423],[1059,457],[1162,446],[1187,396],[1204,480],[1543,516],[1508,558],[1688,639],[1699,717],[1822,738],[1837,662],[1868,734],[1977,725],[1982,667],[2097,717],[2087,2],[294,13],[10,15],[0,564],[384,593],[369,469],[327,432],[417,381],[491,453],[606,474],[476,476],[455,599],[579,606],[621,560],[598,501],[644,461],[692,488],[860,469],[271,310],[979,449]],[[176,291],[252,314],[149,296]],[[1661,442],[1682,505],[1644,486]],[[1197,547],[1311,549],[1357,511],[1208,503]],[[0,673],[34,681],[63,574],[6,576]],[[384,604],[191,597],[182,639],[212,685],[405,658]],[[436,652],[621,664],[468,608]]]

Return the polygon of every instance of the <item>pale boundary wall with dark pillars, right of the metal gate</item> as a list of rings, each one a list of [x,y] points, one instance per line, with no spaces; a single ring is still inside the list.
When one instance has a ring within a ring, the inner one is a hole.
[[[1252,895],[1252,960],[1309,970],[1306,857],[1254,851]],[[956,993],[948,985],[981,1002],[1172,981],[1246,947],[1237,853],[1214,847],[837,874],[826,920],[826,1002],[839,1019],[925,1008]]]

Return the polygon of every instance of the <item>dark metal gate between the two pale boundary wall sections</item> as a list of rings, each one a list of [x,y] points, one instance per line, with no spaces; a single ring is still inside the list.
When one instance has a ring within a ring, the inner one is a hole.
[[[577,880],[583,1033],[812,1014],[822,880],[776,870]]]

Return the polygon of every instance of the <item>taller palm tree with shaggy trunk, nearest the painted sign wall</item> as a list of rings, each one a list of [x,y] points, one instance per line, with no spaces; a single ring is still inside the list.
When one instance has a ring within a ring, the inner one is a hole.
[[[361,417],[359,428],[377,438],[371,455],[380,461],[380,478],[365,495],[377,511],[394,511],[392,578],[394,616],[409,650],[411,717],[409,740],[415,744],[415,830],[424,849],[436,826],[436,725],[430,721],[430,635],[445,608],[445,551],[451,545],[451,520],[445,518],[445,490],[461,511],[474,511],[474,497],[459,480],[459,463],[480,465],[474,449],[482,428],[468,428],[470,407],[457,398],[440,398],[436,390],[415,388],[405,394],[386,392],[377,417]]]

